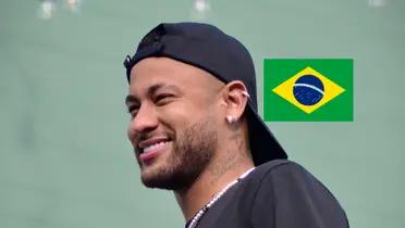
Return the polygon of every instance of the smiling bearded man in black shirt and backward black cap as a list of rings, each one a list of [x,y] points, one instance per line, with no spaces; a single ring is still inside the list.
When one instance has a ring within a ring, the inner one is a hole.
[[[236,39],[207,24],[160,24],[124,65],[142,181],[173,190],[186,227],[348,227],[257,114],[254,64]]]

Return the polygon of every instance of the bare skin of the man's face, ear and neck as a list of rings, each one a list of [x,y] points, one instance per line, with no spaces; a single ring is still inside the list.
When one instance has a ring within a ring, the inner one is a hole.
[[[186,220],[229,182],[254,167],[242,81],[223,84],[208,72],[169,59],[147,58],[131,72],[127,136],[145,186],[173,190]],[[236,117],[230,124],[226,116]],[[150,162],[139,143],[169,141]]]

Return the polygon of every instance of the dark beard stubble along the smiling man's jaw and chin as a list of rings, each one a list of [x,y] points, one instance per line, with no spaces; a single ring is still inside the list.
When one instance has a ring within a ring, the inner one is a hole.
[[[142,176],[148,188],[167,190],[187,189],[208,166],[218,144],[214,122],[208,117],[193,124],[173,140],[173,151],[162,167],[155,175]]]

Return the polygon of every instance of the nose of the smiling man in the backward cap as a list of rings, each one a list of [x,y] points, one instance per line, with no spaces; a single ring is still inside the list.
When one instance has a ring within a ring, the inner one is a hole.
[[[158,123],[155,109],[147,104],[142,105],[136,116],[130,123],[128,138],[133,139],[138,134],[145,134],[156,129]]]

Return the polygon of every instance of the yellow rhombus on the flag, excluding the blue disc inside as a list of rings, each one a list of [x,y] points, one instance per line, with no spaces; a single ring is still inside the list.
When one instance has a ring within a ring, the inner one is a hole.
[[[314,76],[318,77],[318,79],[320,79],[323,84],[323,88],[324,88],[323,97],[318,103],[316,103],[314,105],[304,105],[304,104],[299,103],[294,97],[294,92],[293,92],[294,84],[300,76],[304,76],[304,75],[314,75]],[[340,87],[338,84],[328,79],[326,76],[323,76],[319,72],[315,71],[310,66],[307,66],[306,68],[298,72],[296,75],[294,75],[290,79],[280,84],[272,91],[275,92],[278,96],[282,97],[283,99],[287,100],[290,103],[299,107],[302,111],[306,112],[307,114],[310,114],[314,111],[318,110],[323,104],[328,103],[332,99],[340,96],[345,90],[342,87]]]

